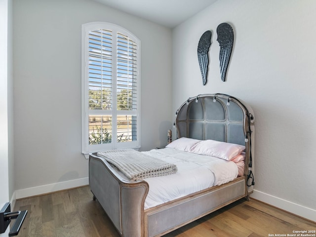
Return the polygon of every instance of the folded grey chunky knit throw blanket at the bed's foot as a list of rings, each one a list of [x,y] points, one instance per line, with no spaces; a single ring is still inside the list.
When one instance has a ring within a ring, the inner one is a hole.
[[[97,155],[115,165],[133,181],[174,174],[178,170],[175,164],[166,163],[133,149],[110,150],[98,152]]]

